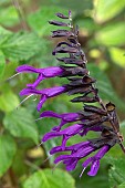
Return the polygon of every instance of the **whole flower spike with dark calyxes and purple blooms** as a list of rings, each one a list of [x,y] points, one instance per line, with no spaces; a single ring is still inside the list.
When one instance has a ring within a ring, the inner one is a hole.
[[[42,142],[44,143],[54,137],[62,137],[62,145],[53,147],[50,150],[50,155],[62,153],[62,155],[59,155],[59,157],[55,158],[54,164],[63,161],[67,170],[73,170],[80,159],[97,150],[94,156],[88,157],[82,164],[83,171],[91,164],[91,170],[87,175],[95,176],[100,168],[101,158],[116,143],[118,143],[125,152],[124,146],[122,145],[123,137],[119,134],[116,109],[115,105],[111,102],[106,105],[103,104],[98,95],[98,90],[95,87],[96,80],[90,76],[90,72],[86,67],[87,61],[77,40],[79,27],[76,25],[74,28],[72,25],[71,11],[69,11],[69,15],[56,13],[56,17],[62,19],[63,22],[50,21],[49,23],[67,28],[67,30],[60,29],[52,31],[52,38],[65,38],[65,41],[58,43],[52,52],[53,55],[60,54],[60,58],[56,56],[60,65],[44,69],[35,69],[30,65],[17,67],[18,73],[27,72],[38,74],[34,83],[27,84],[27,88],[23,88],[20,92],[20,95],[28,95],[28,97],[30,95],[40,95],[40,102],[37,107],[40,112],[45,101],[50,97],[55,97],[63,93],[69,95],[79,94],[71,102],[85,103],[83,109],[80,112],[58,114],[52,111],[45,111],[40,114],[40,118],[55,117],[61,119],[60,125],[53,127],[50,133],[46,133],[43,136]],[[62,58],[61,54],[63,54]],[[55,76],[66,77],[69,83],[61,86],[38,90],[38,85],[43,80]],[[88,103],[91,103],[91,105]],[[98,107],[96,107],[94,103],[98,103]],[[107,122],[111,126],[106,125]],[[73,125],[63,128],[66,123],[73,123]],[[72,136],[77,135],[83,137],[90,130],[100,132],[100,137],[71,146],[66,145],[67,139]],[[63,152],[67,152],[67,154],[63,155]]]

